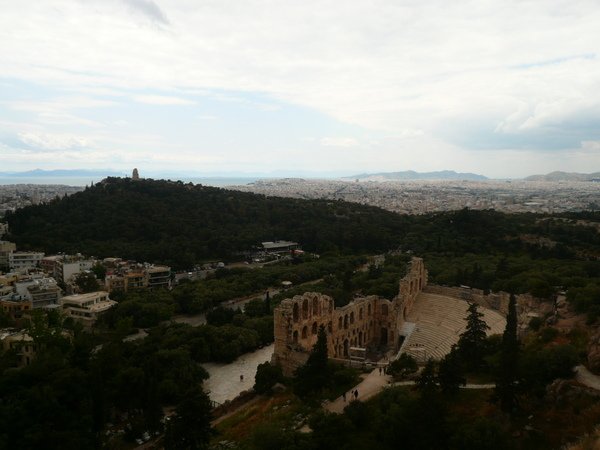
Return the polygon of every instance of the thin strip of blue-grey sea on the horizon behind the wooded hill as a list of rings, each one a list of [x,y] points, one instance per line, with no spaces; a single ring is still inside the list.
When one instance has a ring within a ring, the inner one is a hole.
[[[159,179],[158,177],[156,179]],[[169,179],[167,177],[167,179]],[[253,183],[257,180],[266,178],[260,177],[178,177],[171,178],[173,181],[181,180],[184,183],[202,184],[204,186],[236,186]],[[66,186],[89,186],[91,183],[101,181],[101,177],[2,177],[0,176],[0,185],[6,184],[62,184]]]

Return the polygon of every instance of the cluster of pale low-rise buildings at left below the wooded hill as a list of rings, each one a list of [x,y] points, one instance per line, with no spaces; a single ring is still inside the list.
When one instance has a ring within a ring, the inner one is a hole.
[[[4,272],[2,272],[4,270]],[[106,273],[104,279],[96,272]],[[82,293],[77,283],[84,274],[97,290]],[[95,259],[81,254],[49,255],[17,251],[13,242],[0,241],[0,310],[15,322],[35,309],[57,309],[85,326],[116,304],[109,293],[133,289],[170,288],[171,268],[124,261]]]

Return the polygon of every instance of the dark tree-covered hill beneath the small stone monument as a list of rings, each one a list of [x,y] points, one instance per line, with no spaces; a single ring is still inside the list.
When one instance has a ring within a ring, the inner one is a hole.
[[[119,255],[174,268],[226,258],[278,236],[318,252],[384,251],[398,245],[406,223],[391,212],[352,203],[118,178],[20,209],[6,220],[19,248]]]

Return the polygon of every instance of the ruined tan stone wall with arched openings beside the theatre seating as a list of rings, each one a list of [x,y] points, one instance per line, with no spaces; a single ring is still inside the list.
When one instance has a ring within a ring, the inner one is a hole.
[[[404,320],[426,285],[423,260],[413,258],[393,300],[372,295],[339,308],[331,297],[316,292],[283,300],[274,312],[273,362],[291,375],[306,362],[321,325],[327,331],[327,350],[333,358],[350,358],[351,347],[398,350]]]

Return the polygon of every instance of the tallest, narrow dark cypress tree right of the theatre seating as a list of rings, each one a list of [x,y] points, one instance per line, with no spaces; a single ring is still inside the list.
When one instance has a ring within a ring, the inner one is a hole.
[[[517,408],[518,394],[519,338],[517,335],[517,300],[510,294],[506,328],[502,335],[500,348],[500,367],[496,381],[495,396],[500,407],[508,414],[514,414]]]

